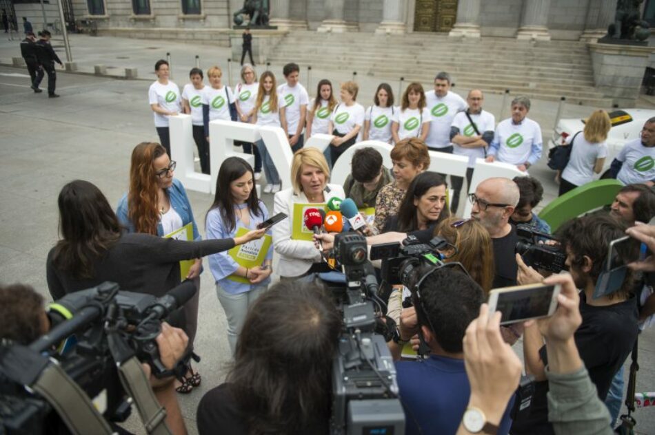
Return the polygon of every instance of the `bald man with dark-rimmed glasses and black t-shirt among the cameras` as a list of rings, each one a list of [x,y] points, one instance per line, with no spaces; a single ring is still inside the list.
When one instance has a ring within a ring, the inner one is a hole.
[[[520,196],[518,186],[509,178],[487,178],[478,184],[475,193],[469,195],[473,204],[472,219],[487,229],[494,244],[494,288],[516,285],[518,266],[514,248],[518,236],[510,224],[510,216]]]

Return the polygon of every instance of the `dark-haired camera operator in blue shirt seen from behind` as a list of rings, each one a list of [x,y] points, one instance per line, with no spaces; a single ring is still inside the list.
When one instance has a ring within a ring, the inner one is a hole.
[[[478,315],[483,290],[451,266],[423,269],[427,275],[423,275],[419,288],[412,289],[414,307],[403,310],[399,327],[401,343],[394,349],[397,357],[402,341],[421,332],[431,350],[428,359],[396,362],[407,422],[405,433],[438,430],[454,434],[470,394],[462,339],[467,326]],[[507,403],[496,405],[507,407]],[[507,407],[499,420],[498,434],[507,434],[510,428],[509,411]]]

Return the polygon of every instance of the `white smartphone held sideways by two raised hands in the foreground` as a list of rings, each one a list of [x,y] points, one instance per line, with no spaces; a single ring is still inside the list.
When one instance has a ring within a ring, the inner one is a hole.
[[[560,285],[527,284],[494,288],[489,293],[489,316],[500,311],[501,325],[552,316]]]

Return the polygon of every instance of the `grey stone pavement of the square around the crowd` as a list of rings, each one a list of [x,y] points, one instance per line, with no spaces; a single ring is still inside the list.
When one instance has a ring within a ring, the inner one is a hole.
[[[112,57],[111,65],[136,66],[139,72],[142,67],[145,70],[148,65],[154,65],[162,53],[165,55],[167,50],[171,51],[174,56],[180,56],[179,59],[186,59],[180,61],[177,67],[174,64],[175,81],[179,85],[185,83],[185,71],[193,66],[194,61],[195,50],[188,45],[168,41],[154,43],[83,35],[74,35],[72,41],[73,54],[80,65],[93,65],[102,57],[99,56],[102,53],[108,59]],[[114,59],[126,53],[130,46],[135,47],[129,54],[130,59]],[[147,50],[147,47],[159,48]],[[185,47],[189,55],[182,58]],[[214,50],[205,45],[199,49]],[[18,55],[17,50],[15,41],[0,41],[1,63]],[[227,49],[214,50],[219,53],[216,59],[227,59],[227,52],[223,55],[221,50]],[[57,47],[57,51],[62,58],[65,56],[63,47]],[[88,57],[84,59],[82,53]],[[109,62],[105,64],[110,65]],[[206,68],[208,64],[203,61],[203,65]],[[281,65],[273,66],[274,72],[279,74]],[[350,72],[316,69],[312,71],[312,83],[316,83],[322,74],[332,78],[335,83],[350,78]],[[154,79],[153,76],[141,76]],[[236,80],[236,75],[233,78]],[[303,70],[301,81],[305,78]],[[362,91],[359,100],[368,105],[377,83],[367,78],[360,80]],[[0,191],[0,201],[3,203],[0,208],[0,281],[29,284],[48,298],[45,262],[48,250],[58,240],[57,195],[63,184],[75,178],[89,180],[97,184],[111,204],[117,204],[128,187],[132,148],[139,142],[158,139],[147,102],[147,81],[59,72],[57,92],[61,98],[55,100],[48,99],[45,93],[32,93],[28,83],[26,70],[0,66],[0,98],[3,103],[0,106],[0,158],[3,169],[0,180],[4,186]],[[457,92],[460,91],[457,89]],[[310,94],[313,92],[310,87]],[[498,117],[501,102],[501,96],[488,95],[485,109]],[[567,106],[565,117],[587,116],[593,109]],[[546,136],[552,131],[556,110],[556,103],[532,102],[530,117],[541,123]],[[505,116],[507,114],[505,109]],[[544,184],[545,202],[554,198],[556,185],[552,181],[552,171],[545,166],[545,158],[531,169],[531,173]],[[196,221],[202,229],[212,197],[193,191],[189,191],[189,196]],[[272,206],[272,195],[263,195],[263,200],[267,206]],[[201,233],[204,231],[201,230]],[[520,344],[516,348],[520,353]],[[180,396],[183,415],[191,433],[196,432],[195,410],[202,394],[221,383],[229,368],[228,349],[225,315],[214,295],[212,277],[205,260],[196,338],[196,350],[203,357],[199,364],[203,384],[189,396]],[[645,331],[640,340],[638,391],[655,391],[654,360],[655,330],[651,329]],[[636,418],[638,433],[655,434],[654,408],[638,410]],[[130,419],[128,427],[144,433],[138,429],[138,418]]]

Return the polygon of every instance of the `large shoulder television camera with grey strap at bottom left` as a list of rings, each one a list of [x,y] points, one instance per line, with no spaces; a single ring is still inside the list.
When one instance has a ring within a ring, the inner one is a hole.
[[[161,320],[195,292],[192,282],[184,282],[156,298],[105,282],[57,300],[48,310],[52,328],[46,335],[29,346],[0,343],[0,433],[80,432],[75,417],[81,410],[71,409],[70,396],[64,396],[77,387],[78,403],[82,407],[92,403],[96,415],[101,414],[100,426],[106,429],[105,421],[125,421],[132,410],[130,396],[135,396],[126,375],[134,373],[128,372],[134,361],[148,363],[157,377],[184,370],[190,356],[167,370],[155,339]],[[49,387],[40,385],[54,365],[63,369],[61,376]],[[139,399],[134,401],[141,412]],[[161,421],[163,416],[165,412]]]

